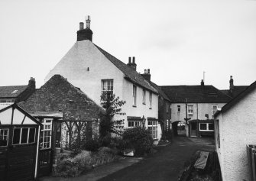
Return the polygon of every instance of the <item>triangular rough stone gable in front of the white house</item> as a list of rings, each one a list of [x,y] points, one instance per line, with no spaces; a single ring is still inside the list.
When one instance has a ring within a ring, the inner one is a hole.
[[[98,118],[99,112],[104,112],[84,92],[60,75],[52,76],[19,105],[37,115],[42,115],[42,112],[63,112],[63,120],[89,121]]]

